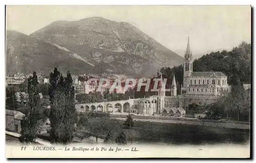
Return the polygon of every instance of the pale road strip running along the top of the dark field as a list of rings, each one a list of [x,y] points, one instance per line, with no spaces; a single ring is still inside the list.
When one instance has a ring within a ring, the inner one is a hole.
[[[117,120],[125,120],[126,118],[114,118]],[[250,129],[250,125],[247,124],[231,124],[231,123],[215,123],[215,122],[198,122],[198,121],[181,121],[181,120],[159,120],[159,119],[133,119],[134,121],[149,121],[149,122],[160,122],[160,123],[177,123],[177,124],[188,124],[188,125],[200,125],[200,126],[213,126],[213,127],[225,127],[225,128],[238,128],[238,129]]]

